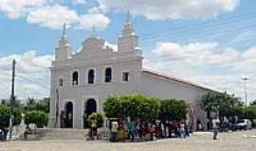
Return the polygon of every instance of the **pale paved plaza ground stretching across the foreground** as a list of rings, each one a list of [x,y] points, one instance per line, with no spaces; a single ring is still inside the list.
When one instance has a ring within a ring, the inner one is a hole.
[[[0,151],[253,151],[256,130],[221,133],[213,141],[211,133],[196,132],[187,139],[165,139],[146,143],[109,143],[79,140],[15,141],[0,143]]]

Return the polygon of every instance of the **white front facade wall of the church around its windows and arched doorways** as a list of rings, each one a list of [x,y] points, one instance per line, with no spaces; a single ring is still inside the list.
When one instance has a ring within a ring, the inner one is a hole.
[[[112,82],[105,83],[105,69],[107,67],[112,68]],[[87,84],[88,71],[90,69],[95,70],[96,83]],[[141,69],[141,59],[131,59],[129,61],[119,61],[105,64],[81,64],[79,67],[55,67],[52,68],[52,91],[56,88],[59,90],[60,97],[60,111],[64,110],[64,104],[66,100],[74,102],[73,112],[74,112],[74,127],[82,128],[82,115],[84,102],[89,98],[94,98],[97,101],[98,110],[102,112],[102,103],[106,97],[110,95],[119,95],[127,93],[135,93],[137,86],[137,79],[139,76],[139,71]],[[77,71],[79,73],[79,85],[72,85],[72,74]],[[129,81],[122,81],[122,73],[129,71]],[[59,77],[64,78],[64,86],[59,87]],[[53,116],[55,115],[55,99],[56,93],[51,93],[52,102],[51,110]],[[54,120],[53,120],[54,121]],[[60,121],[60,120],[59,120]],[[60,125],[58,125],[60,126]]]

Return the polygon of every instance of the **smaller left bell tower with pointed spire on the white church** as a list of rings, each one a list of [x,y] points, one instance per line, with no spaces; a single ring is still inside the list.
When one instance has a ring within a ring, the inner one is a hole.
[[[72,48],[65,35],[65,24],[63,28],[63,35],[59,41],[58,47],[55,49],[55,60],[71,59]]]

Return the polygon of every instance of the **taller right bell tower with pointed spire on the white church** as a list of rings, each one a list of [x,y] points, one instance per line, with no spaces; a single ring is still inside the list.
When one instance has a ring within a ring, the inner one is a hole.
[[[131,16],[128,10],[126,23],[122,30],[122,35],[118,40],[119,52],[131,52],[137,49],[137,35],[135,34],[133,25],[131,23]]]

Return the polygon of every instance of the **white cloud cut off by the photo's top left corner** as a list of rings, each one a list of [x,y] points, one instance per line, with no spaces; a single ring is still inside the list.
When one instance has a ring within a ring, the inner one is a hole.
[[[1,0],[0,12],[2,11],[11,19],[25,17],[35,8],[42,7],[46,0]]]

